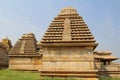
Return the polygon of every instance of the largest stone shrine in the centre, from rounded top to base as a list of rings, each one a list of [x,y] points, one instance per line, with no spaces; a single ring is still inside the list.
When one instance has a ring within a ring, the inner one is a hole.
[[[72,7],[63,8],[50,23],[41,41],[42,76],[81,77],[97,80],[94,36],[82,16]]]

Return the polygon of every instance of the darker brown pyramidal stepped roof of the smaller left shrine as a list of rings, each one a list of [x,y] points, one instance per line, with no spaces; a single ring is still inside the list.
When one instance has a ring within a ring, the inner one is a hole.
[[[36,39],[33,33],[23,34],[21,39],[17,41],[9,54],[36,54]]]

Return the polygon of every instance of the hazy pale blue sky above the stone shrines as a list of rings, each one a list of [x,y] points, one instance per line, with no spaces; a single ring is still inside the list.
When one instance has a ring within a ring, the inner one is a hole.
[[[13,45],[33,32],[40,41],[51,21],[67,6],[77,9],[99,43],[97,51],[120,58],[120,0],[0,0],[0,39]]]

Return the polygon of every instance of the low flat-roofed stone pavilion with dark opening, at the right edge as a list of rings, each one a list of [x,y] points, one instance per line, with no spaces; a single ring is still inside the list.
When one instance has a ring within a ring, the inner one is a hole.
[[[119,58],[112,56],[109,51],[95,51],[93,54],[99,76],[120,77],[120,65],[113,62]]]

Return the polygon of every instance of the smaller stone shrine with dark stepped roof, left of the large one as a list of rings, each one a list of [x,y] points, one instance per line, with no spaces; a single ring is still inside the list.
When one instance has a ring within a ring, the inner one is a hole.
[[[23,34],[9,52],[9,68],[18,70],[38,70],[41,55],[37,53],[33,33]]]

